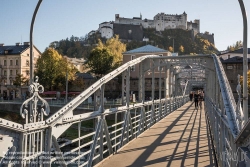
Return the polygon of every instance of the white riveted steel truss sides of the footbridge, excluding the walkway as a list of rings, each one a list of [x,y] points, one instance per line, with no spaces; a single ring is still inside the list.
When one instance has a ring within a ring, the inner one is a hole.
[[[138,99],[131,103],[131,68],[135,65],[139,67]],[[105,108],[105,84],[120,74],[123,105]],[[145,99],[146,79],[151,80],[149,101]],[[43,87],[37,79],[30,86],[33,96],[20,109],[25,124],[0,118],[0,164],[96,165],[184,105],[190,91],[197,87],[205,91],[205,111],[218,164],[246,164],[235,161],[229,154],[245,153],[249,140],[247,136],[240,137],[247,133],[247,128],[241,130],[244,122],[240,103],[236,105],[216,55],[139,57],[102,77],[51,116],[47,102],[39,96]],[[74,114],[77,106],[92,96],[94,111]],[[39,100],[43,105],[38,105]]]

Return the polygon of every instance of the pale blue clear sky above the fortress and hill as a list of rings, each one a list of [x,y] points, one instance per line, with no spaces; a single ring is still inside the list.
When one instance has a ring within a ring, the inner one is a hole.
[[[243,0],[247,13],[250,1]],[[0,43],[29,42],[30,24],[38,0],[0,0]],[[53,41],[82,37],[100,23],[120,17],[153,19],[157,13],[187,13],[200,20],[200,32],[214,33],[215,46],[226,50],[243,41],[243,20],[238,0],[43,0],[36,16],[34,45],[43,52]],[[248,31],[250,30],[248,18]],[[250,48],[250,32],[248,47]]]

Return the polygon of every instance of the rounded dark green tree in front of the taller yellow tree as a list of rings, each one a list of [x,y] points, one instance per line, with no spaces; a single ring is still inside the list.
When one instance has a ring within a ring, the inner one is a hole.
[[[103,76],[115,68],[113,59],[114,56],[107,48],[97,47],[91,51],[87,60],[87,66],[94,74]]]

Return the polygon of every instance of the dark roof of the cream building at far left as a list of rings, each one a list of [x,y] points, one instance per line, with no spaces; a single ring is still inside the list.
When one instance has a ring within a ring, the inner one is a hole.
[[[0,46],[0,55],[19,55],[25,50],[27,50],[30,45],[9,45],[9,46]],[[40,53],[40,51],[34,46],[34,48]],[[5,51],[8,51],[5,54]],[[41,54],[41,53],[40,53]]]

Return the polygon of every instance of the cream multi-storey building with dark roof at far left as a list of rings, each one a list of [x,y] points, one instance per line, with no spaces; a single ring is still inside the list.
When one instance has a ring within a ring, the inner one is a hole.
[[[34,47],[34,67],[41,52]],[[16,45],[4,46],[0,44],[0,96],[3,99],[22,98],[26,96],[27,85],[17,87],[13,85],[18,74],[24,78],[30,77],[30,44],[16,43]]]

